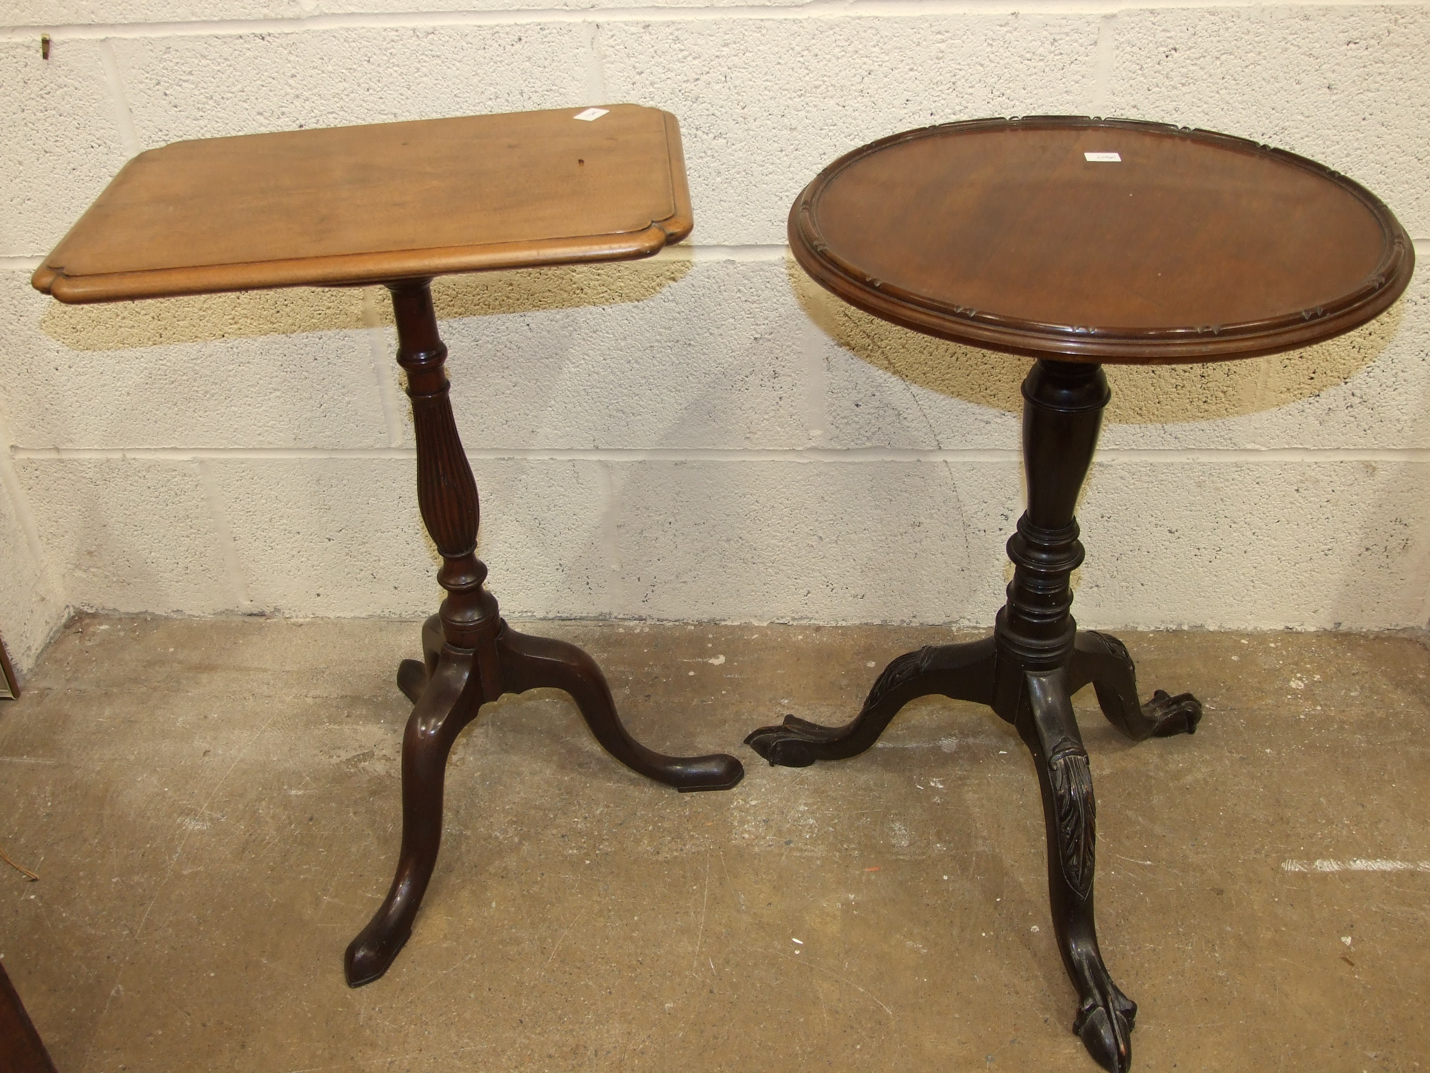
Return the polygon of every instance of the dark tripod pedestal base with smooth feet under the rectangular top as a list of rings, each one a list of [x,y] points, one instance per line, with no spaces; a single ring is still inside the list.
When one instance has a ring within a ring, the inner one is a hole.
[[[526,637],[502,621],[476,558],[480,506],[472,468],[458,438],[448,398],[446,345],[438,335],[425,279],[390,283],[398,320],[398,362],[418,441],[418,504],[442,552],[438,582],[448,598],[422,631],[423,661],[405,660],[398,685],[413,701],[402,738],[402,850],[388,897],[347,946],[347,983],[372,983],[412,933],[442,841],[442,785],[448,753],[482,705],[505,692],[565,690],[605,750],[629,767],[682,793],[728,790],[745,775],[724,753],[666,757],[626,733],[611,687],[595,661],[575,645]]]

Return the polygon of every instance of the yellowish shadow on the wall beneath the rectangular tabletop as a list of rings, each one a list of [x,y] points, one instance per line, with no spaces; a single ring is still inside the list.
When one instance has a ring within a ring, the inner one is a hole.
[[[438,318],[526,313],[645,302],[682,279],[691,259],[558,265],[443,276],[432,285]],[[392,325],[379,288],[287,288],[233,295],[67,306],[51,302],[41,330],[74,351],[199,343]]]

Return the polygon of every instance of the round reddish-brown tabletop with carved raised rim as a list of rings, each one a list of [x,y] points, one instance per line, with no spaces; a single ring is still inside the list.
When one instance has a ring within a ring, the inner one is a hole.
[[[1369,190],[1228,134],[1074,116],[947,123],[855,149],[789,243],[822,286],[974,346],[1211,362],[1379,316],[1414,250]]]

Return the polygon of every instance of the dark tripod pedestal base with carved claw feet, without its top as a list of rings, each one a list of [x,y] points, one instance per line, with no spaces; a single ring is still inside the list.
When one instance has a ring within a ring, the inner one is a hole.
[[[785,767],[844,760],[874,745],[905,704],[931,694],[985,704],[1012,724],[1032,754],[1042,794],[1052,930],[1078,991],[1072,1030],[1098,1064],[1125,1073],[1137,1004],[1113,983],[1097,944],[1097,804],[1071,697],[1094,684],[1108,721],[1134,741],[1193,734],[1201,704],[1160,690],[1138,704],[1137,672],[1121,641],[1078,631],[1070,614],[1068,579],[1083,562],[1072,508],[1110,398],[1103,366],[1041,361],[1022,393],[1028,509],[1008,541],[1014,574],[994,635],[898,657],[842,727],[786,715],[745,744]]]

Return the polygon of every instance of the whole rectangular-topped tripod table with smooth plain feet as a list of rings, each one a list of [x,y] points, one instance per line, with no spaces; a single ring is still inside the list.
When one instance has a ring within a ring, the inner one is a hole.
[[[586,652],[502,621],[476,558],[478,495],[458,439],[430,279],[448,272],[645,258],[691,230],[675,116],[636,104],[177,142],[140,153],[36,270],[61,302],[385,283],[438,549],[439,614],[402,740],[402,850],[386,901],[347,947],[353,987],[412,931],[442,836],[448,751],[486,701],[565,690],[616,760],[678,790],[728,790],[734,757],[666,757],[622,727]]]

